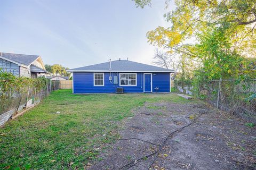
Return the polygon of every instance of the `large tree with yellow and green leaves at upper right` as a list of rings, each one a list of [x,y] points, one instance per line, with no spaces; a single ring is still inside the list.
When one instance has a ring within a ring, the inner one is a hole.
[[[137,6],[151,3],[141,1],[135,2]],[[175,4],[175,10],[164,15],[172,26],[148,31],[150,44],[197,62],[210,79],[236,77],[243,57],[255,57],[256,0],[179,0]]]

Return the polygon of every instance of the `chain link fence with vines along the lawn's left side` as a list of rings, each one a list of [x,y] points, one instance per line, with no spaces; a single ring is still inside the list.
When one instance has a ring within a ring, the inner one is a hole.
[[[0,126],[7,122],[11,117],[27,108],[35,106],[48,96],[53,90],[58,90],[60,82],[58,80],[47,81],[47,86],[43,89],[25,86],[17,91],[9,91],[9,95],[0,99]]]

